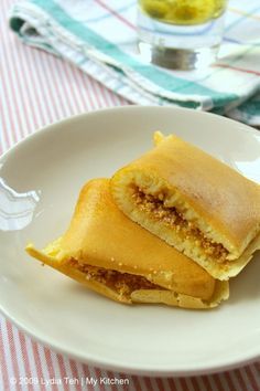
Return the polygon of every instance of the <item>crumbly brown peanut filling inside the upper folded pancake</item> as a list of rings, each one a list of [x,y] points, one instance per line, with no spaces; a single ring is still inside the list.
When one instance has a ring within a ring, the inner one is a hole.
[[[183,239],[195,237],[196,245],[199,245],[207,255],[213,256],[217,262],[221,263],[226,261],[228,251],[220,243],[214,243],[210,239],[205,237],[194,223],[183,219],[174,207],[165,207],[163,197],[156,198],[145,194],[138,188],[132,197],[140,210],[150,213],[155,220],[174,226]]]

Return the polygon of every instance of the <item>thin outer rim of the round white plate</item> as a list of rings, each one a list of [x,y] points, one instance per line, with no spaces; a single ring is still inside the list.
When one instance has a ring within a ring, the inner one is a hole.
[[[73,121],[82,121],[84,120],[86,117],[89,116],[95,116],[95,115],[99,115],[101,114],[106,114],[107,112],[136,112],[136,110],[143,110],[143,109],[159,109],[159,110],[169,110],[171,109],[173,113],[174,112],[183,112],[188,113],[188,115],[191,113],[193,113],[193,115],[207,115],[210,117],[218,117],[218,119],[226,121],[226,123],[234,123],[239,125],[239,127],[242,128],[243,131],[247,131],[249,134],[252,134],[254,136],[260,136],[259,131],[257,129],[253,129],[252,127],[236,121],[234,119],[229,119],[226,117],[221,117],[218,116],[216,114],[213,113],[206,113],[206,112],[199,112],[199,110],[194,110],[194,109],[189,109],[189,108],[181,108],[181,107],[171,107],[171,106],[139,106],[139,105],[131,105],[131,106],[118,106],[118,107],[109,107],[109,108],[102,108],[102,109],[95,109],[91,112],[86,112],[86,113],[82,113],[82,114],[77,114],[77,115],[73,115],[73,116],[68,116],[65,118],[62,118],[61,120],[56,120],[50,125],[45,125],[41,128],[39,128],[37,130],[33,131],[32,134],[28,135],[26,137],[24,137],[22,140],[20,140],[19,142],[17,142],[13,147],[11,147],[10,149],[8,149],[4,154],[2,154],[2,156],[0,157],[0,163],[4,165],[7,159],[9,158],[9,156],[11,156],[12,154],[15,152],[17,149],[19,149],[22,145],[30,142],[32,139],[36,139],[39,137],[41,137],[41,135],[43,133],[55,133],[56,131],[56,127],[58,126],[63,126],[63,124],[67,124],[67,123],[73,123]],[[209,373],[217,373],[217,372],[221,372],[225,370],[231,370],[235,368],[238,368],[240,366],[245,366],[248,364],[250,362],[253,362],[256,360],[260,359],[260,352],[249,352],[248,355],[236,355],[236,359],[226,359],[226,360],[221,360],[221,362],[219,363],[212,363],[209,366],[205,366],[204,364],[199,364],[196,363],[196,366],[194,366],[194,368],[192,368],[189,366],[189,369],[185,369],[184,366],[181,366],[180,368],[175,369],[171,369],[171,368],[166,368],[165,364],[163,366],[164,368],[161,368],[160,366],[156,368],[153,368],[152,364],[149,364],[149,368],[145,368],[145,364],[141,366],[126,366],[123,363],[119,363],[119,362],[111,362],[111,360],[104,360],[104,358],[94,358],[94,357],[89,357],[88,355],[82,355],[82,353],[76,353],[76,352],[72,352],[69,349],[66,349],[66,347],[62,347],[61,345],[55,345],[55,342],[50,344],[46,338],[41,338],[40,336],[36,335],[36,332],[31,331],[30,328],[28,328],[25,325],[23,325],[22,321],[19,321],[19,319],[15,318],[15,316],[11,315],[9,313],[9,310],[7,308],[4,308],[2,306],[2,303],[0,302],[0,311],[3,316],[7,317],[8,320],[10,320],[12,324],[15,325],[15,327],[18,327],[20,330],[22,330],[23,332],[25,332],[28,336],[32,337],[34,340],[41,342],[43,346],[47,346],[51,349],[53,349],[56,352],[59,352],[66,357],[71,357],[75,360],[79,360],[82,362],[88,363],[90,366],[94,367],[99,367],[102,369],[107,369],[107,370],[112,370],[112,371],[117,371],[117,372],[124,372],[124,373],[131,373],[131,374],[140,374],[140,376],[150,376],[150,377],[155,377],[155,376],[161,376],[161,377],[169,377],[169,376],[177,376],[177,377],[185,377],[185,376],[199,376],[199,374],[209,374]],[[93,355],[90,355],[93,356]]]

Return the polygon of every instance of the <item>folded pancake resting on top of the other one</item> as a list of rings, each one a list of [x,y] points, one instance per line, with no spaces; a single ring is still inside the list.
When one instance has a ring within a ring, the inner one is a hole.
[[[237,275],[260,249],[260,187],[176,136],[111,179],[117,205],[210,275]]]

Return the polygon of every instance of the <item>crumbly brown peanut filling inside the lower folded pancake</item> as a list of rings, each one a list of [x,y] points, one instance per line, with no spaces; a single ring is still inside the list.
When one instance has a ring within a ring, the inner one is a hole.
[[[101,283],[121,295],[130,295],[133,290],[138,289],[163,289],[142,276],[84,265],[76,260],[71,260],[69,265],[86,274],[86,279]]]

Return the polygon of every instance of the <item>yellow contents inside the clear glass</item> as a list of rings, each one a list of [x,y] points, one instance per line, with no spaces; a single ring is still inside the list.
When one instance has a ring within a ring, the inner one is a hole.
[[[150,18],[172,24],[202,24],[220,17],[227,0],[139,0]]]

